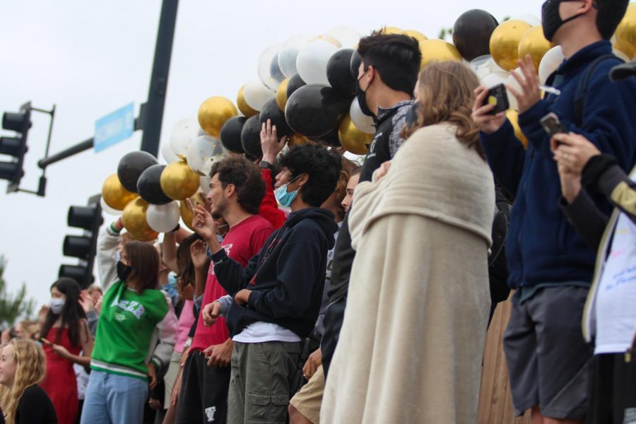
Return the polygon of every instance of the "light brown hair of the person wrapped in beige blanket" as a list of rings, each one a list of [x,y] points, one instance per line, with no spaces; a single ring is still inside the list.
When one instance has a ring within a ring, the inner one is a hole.
[[[479,143],[479,129],[471,118],[477,86],[475,73],[460,62],[428,64],[420,71],[416,85],[417,121],[405,126],[402,136],[406,139],[422,126],[450,122],[457,126],[457,139],[485,158]]]

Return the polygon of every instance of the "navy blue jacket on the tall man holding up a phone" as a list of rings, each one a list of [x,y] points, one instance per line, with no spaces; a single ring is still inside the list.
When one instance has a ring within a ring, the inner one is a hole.
[[[508,284],[512,288],[538,283],[589,282],[594,271],[592,252],[567,222],[558,201],[561,189],[550,137],[539,120],[554,112],[567,131],[582,134],[601,152],[611,153],[628,171],[636,153],[636,78],[609,81],[618,59],[606,59],[591,77],[582,126],[575,121],[575,92],[579,78],[596,57],[611,53],[608,41],[584,47],[565,61],[547,84],[561,94],[549,95],[519,114],[519,126],[529,140],[528,150],[514,136],[510,122],[494,134],[480,134],[488,163],[497,180],[514,195],[507,234]],[[595,199],[606,213],[611,206]]]

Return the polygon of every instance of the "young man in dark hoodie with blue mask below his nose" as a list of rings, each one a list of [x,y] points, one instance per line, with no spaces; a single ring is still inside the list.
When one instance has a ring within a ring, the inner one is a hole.
[[[234,298],[226,323],[234,341],[228,423],[285,422],[301,338],[309,336],[324,290],[327,252],[334,247],[334,214],[319,206],[334,192],[340,158],[322,146],[294,146],[281,156],[276,199],[291,208],[283,227],[265,242],[245,268],[228,257],[204,208],[194,210],[193,227],[213,252],[214,273]],[[226,304],[227,305],[227,304]],[[207,322],[221,312],[214,302]]]

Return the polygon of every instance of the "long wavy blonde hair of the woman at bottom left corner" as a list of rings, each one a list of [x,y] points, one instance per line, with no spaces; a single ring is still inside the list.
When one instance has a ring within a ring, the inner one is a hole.
[[[13,338],[13,359],[16,361],[16,377],[13,386],[2,396],[2,411],[7,423],[15,423],[18,404],[27,387],[42,382],[47,365],[45,353],[33,340]],[[7,345],[8,346],[8,345]]]

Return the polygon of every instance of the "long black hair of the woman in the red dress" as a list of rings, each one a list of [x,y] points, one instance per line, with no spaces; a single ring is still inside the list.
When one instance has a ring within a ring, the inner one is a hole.
[[[86,318],[86,313],[79,304],[81,288],[73,278],[66,277],[62,277],[53,283],[51,285],[51,289],[52,288],[57,288],[60,293],[63,293],[66,300],[60,314],[54,314],[49,308],[45,322],[42,324],[42,329],[40,330],[40,337],[47,338],[49,331],[53,328],[57,319],[61,318],[60,326],[57,331],[55,331],[55,338],[49,341],[59,343],[61,329],[66,327],[69,329],[71,344],[73,346],[81,346],[80,325],[81,320]]]

